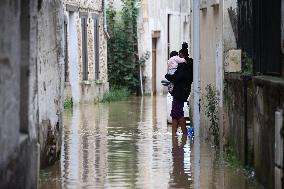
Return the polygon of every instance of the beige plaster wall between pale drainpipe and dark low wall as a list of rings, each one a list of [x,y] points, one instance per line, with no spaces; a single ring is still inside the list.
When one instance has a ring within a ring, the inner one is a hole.
[[[207,135],[209,120],[205,116],[206,86],[216,87],[222,107],[223,91],[223,4],[211,6],[211,1],[200,11],[200,92],[201,133]]]

